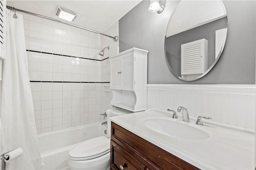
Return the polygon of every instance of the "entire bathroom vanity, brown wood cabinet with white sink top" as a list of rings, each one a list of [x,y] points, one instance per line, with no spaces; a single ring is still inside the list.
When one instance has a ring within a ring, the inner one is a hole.
[[[253,131],[148,109],[112,117],[110,168],[253,169]]]

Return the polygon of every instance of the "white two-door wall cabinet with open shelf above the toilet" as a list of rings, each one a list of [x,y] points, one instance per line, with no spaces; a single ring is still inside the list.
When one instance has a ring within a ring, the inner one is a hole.
[[[130,111],[147,109],[148,51],[132,48],[110,57],[112,106]]]

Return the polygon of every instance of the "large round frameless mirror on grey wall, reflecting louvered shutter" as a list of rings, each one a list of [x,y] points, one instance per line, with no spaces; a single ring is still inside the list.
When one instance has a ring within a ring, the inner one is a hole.
[[[220,0],[180,0],[165,36],[166,60],[172,73],[186,81],[206,75],[223,51],[228,31]]]

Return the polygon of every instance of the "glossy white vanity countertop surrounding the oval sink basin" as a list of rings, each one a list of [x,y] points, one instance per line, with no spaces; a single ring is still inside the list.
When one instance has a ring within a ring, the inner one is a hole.
[[[200,169],[254,169],[254,131],[204,119],[204,125],[200,126],[195,124],[196,118],[190,117],[190,122],[184,122],[182,115],[177,115],[178,119],[172,119],[171,112],[148,109],[111,117],[110,120]],[[187,140],[162,135],[144,125],[144,121],[152,118],[184,123],[208,133],[210,137],[205,140]]]

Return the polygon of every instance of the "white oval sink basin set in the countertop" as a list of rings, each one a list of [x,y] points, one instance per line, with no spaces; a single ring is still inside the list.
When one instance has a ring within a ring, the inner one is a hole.
[[[179,139],[203,140],[209,138],[209,135],[204,131],[175,121],[148,119],[144,121],[144,125],[162,135]]]

